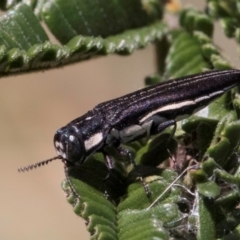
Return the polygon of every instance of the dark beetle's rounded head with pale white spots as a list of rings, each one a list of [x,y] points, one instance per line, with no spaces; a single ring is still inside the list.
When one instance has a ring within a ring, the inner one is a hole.
[[[82,144],[79,139],[65,131],[57,131],[54,136],[57,154],[71,163],[80,162],[83,158]]]

